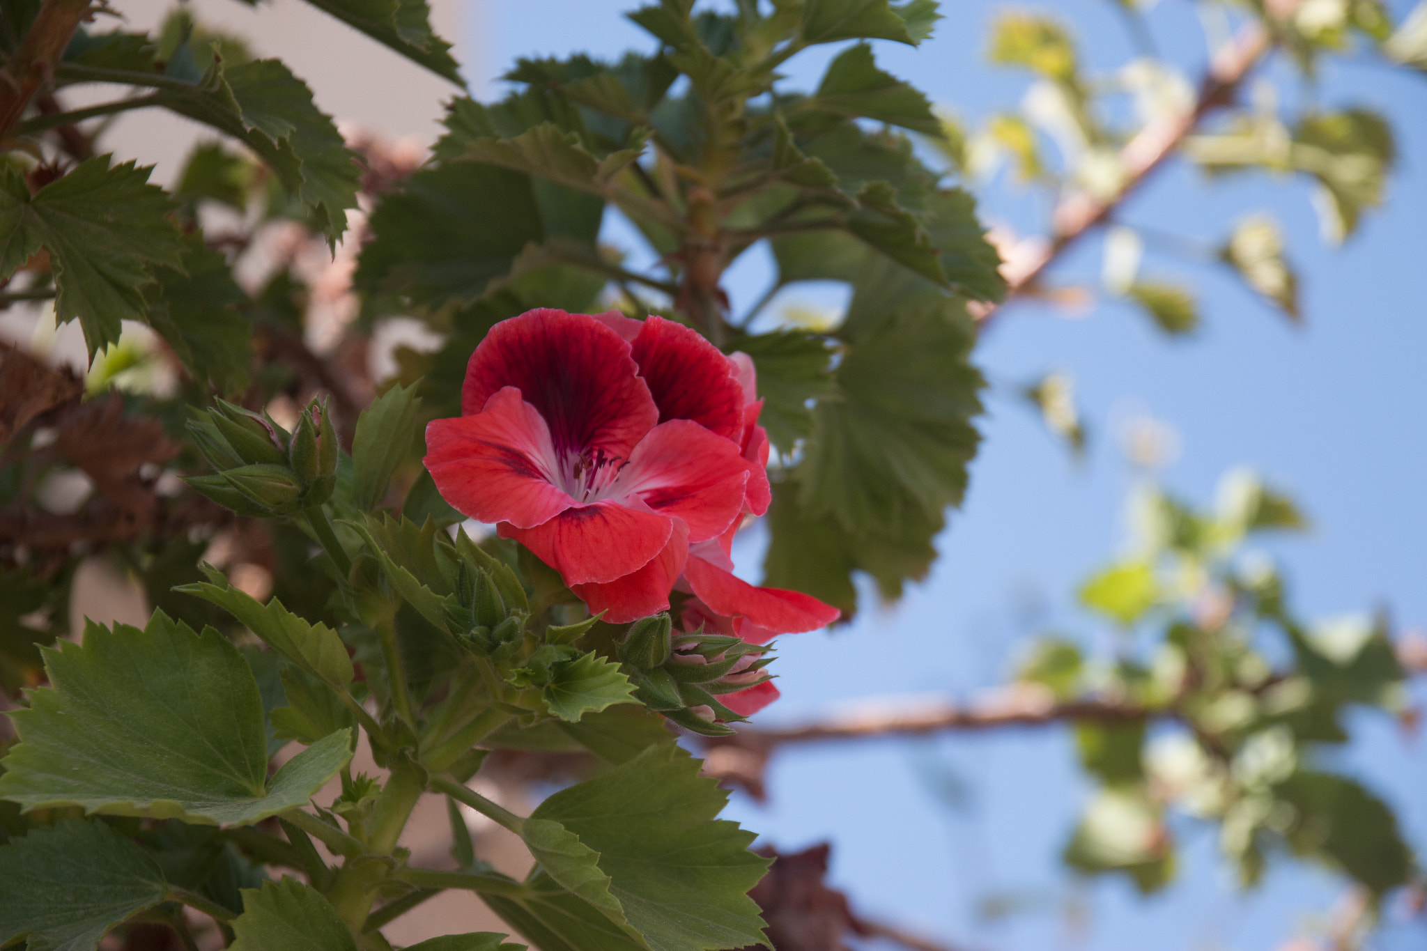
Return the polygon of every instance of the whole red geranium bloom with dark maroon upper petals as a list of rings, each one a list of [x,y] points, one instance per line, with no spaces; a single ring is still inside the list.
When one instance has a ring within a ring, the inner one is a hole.
[[[535,309],[477,346],[462,415],[428,426],[425,465],[452,506],[497,523],[605,620],[668,610],[678,590],[684,630],[766,643],[838,610],[733,575],[733,533],[771,500],[755,391],[746,355],[674,321]],[[758,697],[741,713],[776,696],[742,693]]]

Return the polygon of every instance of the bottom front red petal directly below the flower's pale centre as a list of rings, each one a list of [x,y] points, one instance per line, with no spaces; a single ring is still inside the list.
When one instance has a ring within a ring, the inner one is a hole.
[[[615,502],[577,505],[535,528],[501,522],[501,538],[515,539],[565,579],[567,585],[612,582],[636,572],[664,550],[678,522]]]

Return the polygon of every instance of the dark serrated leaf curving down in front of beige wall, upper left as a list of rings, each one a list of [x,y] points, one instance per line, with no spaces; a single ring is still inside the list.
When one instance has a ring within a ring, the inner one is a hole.
[[[164,106],[245,143],[298,198],[328,242],[357,207],[361,167],[307,83],[280,60],[215,61],[191,91],[166,88]]]

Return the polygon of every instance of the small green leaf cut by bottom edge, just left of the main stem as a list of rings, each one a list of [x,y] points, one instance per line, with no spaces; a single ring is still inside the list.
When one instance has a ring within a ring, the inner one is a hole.
[[[295,878],[243,890],[231,951],[357,951],[341,915],[315,888]]]

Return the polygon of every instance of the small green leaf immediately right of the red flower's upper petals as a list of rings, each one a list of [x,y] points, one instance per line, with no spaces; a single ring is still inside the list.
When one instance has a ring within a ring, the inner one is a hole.
[[[796,331],[745,336],[733,346],[752,356],[758,371],[758,395],[763,401],[758,422],[779,452],[791,453],[812,431],[809,401],[836,392],[829,369],[833,351],[826,339]]]

